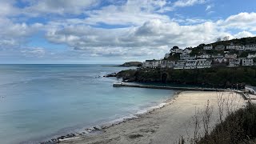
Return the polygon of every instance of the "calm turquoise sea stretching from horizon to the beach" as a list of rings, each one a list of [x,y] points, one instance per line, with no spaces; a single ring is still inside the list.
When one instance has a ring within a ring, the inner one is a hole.
[[[99,65],[0,65],[0,143],[37,143],[163,102],[172,90],[115,88]],[[98,78],[98,76],[101,76]]]

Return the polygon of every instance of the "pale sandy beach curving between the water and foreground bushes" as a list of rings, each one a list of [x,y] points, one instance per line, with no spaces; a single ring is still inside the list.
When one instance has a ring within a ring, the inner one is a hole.
[[[246,106],[240,94],[234,92],[183,91],[160,109],[142,114],[126,122],[110,126],[101,134],[72,138],[61,143],[175,143],[181,136],[189,138],[194,131],[196,110],[205,109],[207,101],[213,109],[211,127],[218,122],[218,99],[232,103],[232,109]],[[224,109],[226,113],[226,109]]]

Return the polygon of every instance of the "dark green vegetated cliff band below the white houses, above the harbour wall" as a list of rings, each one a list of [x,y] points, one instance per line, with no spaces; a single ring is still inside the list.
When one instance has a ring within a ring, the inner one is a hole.
[[[162,74],[167,74],[166,80],[162,80]],[[223,88],[236,88],[238,86],[242,88],[246,84],[256,86],[256,66],[214,67],[195,70],[123,70],[118,73],[118,77],[129,82],[167,82]]]

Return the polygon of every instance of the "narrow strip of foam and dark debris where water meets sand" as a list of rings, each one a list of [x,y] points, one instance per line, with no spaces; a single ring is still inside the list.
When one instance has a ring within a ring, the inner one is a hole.
[[[167,98],[165,101],[160,102],[157,105],[146,107],[145,109],[142,109],[142,110],[138,110],[134,114],[125,115],[123,117],[116,118],[109,122],[102,122],[102,123],[99,123],[98,125],[94,125],[94,126],[90,126],[90,127],[85,126],[84,128],[78,129],[77,131],[74,130],[73,133],[69,133],[66,135],[60,134],[59,136],[57,135],[57,138],[55,136],[54,138],[49,138],[49,139],[46,139],[46,141],[42,141],[39,143],[44,144],[44,143],[49,143],[49,142],[52,142],[52,143],[65,142],[65,141],[73,140],[76,138],[82,138],[83,136],[101,134],[102,132],[105,132],[105,130],[110,127],[119,125],[120,123],[123,123],[123,122],[128,122],[130,120],[140,118],[145,114],[150,114],[154,110],[162,109],[162,107],[172,104],[175,101],[175,98],[178,97],[178,94],[180,94],[182,91],[174,90],[174,92],[175,92],[175,94],[173,95],[173,97]]]

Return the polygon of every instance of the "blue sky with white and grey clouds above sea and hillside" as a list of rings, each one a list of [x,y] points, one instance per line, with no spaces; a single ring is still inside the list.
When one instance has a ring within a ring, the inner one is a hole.
[[[0,0],[0,63],[159,59],[256,34],[255,0]]]

